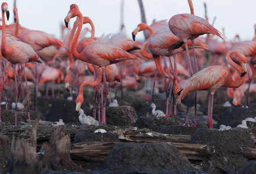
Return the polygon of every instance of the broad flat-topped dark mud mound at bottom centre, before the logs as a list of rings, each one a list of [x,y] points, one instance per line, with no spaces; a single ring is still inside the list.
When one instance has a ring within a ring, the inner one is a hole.
[[[118,143],[103,162],[111,173],[196,173],[172,143]]]

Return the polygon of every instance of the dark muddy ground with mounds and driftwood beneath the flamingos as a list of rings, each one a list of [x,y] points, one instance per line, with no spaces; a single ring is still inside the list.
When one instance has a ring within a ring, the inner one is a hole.
[[[50,88],[51,89],[51,88]],[[0,124],[0,171],[2,173],[253,173],[255,169],[256,124],[236,128],[243,119],[256,117],[256,97],[250,95],[247,107],[222,104],[229,101],[226,89],[214,96],[214,129],[207,126],[207,92],[199,92],[199,126],[181,126],[185,122],[186,99],[177,115],[156,118],[151,114],[152,101],[145,101],[143,90],[125,89],[120,107],[107,107],[107,125],[82,126],[75,111],[75,101],[67,100],[63,85],[55,88],[56,99],[37,98],[31,121],[27,111],[18,112],[2,106]],[[82,108],[92,115],[93,89],[86,88]],[[165,94],[154,99],[157,109],[165,112]],[[193,95],[192,95],[193,97]],[[74,97],[75,99],[75,97]],[[192,101],[192,100],[190,100]],[[190,106],[193,106],[193,101]],[[26,108],[26,107],[25,107]],[[189,124],[193,125],[193,108]],[[37,118],[41,119],[38,123]],[[63,119],[66,125],[54,126]],[[98,117],[97,117],[98,118]],[[232,129],[219,131],[219,125]],[[93,133],[105,129],[107,133]],[[33,132],[34,130],[34,132]],[[31,133],[32,132],[32,133]],[[21,153],[22,152],[22,153]],[[251,171],[251,172],[250,172]]]

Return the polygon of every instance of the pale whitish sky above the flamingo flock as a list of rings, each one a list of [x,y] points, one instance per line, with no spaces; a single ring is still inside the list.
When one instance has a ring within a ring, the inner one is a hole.
[[[13,23],[14,1],[6,1],[9,5],[10,20]],[[194,0],[194,13],[204,18],[204,2],[207,4],[210,24],[217,17],[214,27],[232,40],[239,34],[243,41],[254,37],[254,24],[256,24],[255,0]],[[83,16],[91,18],[95,25],[95,36],[103,33],[109,34],[120,29],[121,0],[44,0],[28,1],[17,0],[20,24],[31,30],[41,30],[60,38],[60,25],[64,24],[71,3],[76,3]],[[187,0],[143,0],[147,24],[153,19],[170,20],[179,13],[190,13]],[[71,21],[74,21],[71,20]],[[73,22],[72,22],[73,23]],[[131,32],[141,23],[140,9],[137,0],[124,0],[124,24],[126,34],[132,38]],[[143,38],[142,33],[136,38]]]

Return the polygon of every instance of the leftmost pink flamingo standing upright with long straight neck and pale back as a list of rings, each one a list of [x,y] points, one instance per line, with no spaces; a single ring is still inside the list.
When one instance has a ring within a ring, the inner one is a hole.
[[[5,27],[5,13],[7,19],[9,19],[9,10],[8,4],[6,2],[2,3],[2,45],[1,45],[1,52],[2,56],[5,57],[10,63],[12,63],[13,68],[16,67],[17,63],[20,63],[23,67],[25,81],[26,81],[26,92],[27,92],[27,110],[28,110],[28,119],[30,119],[30,112],[29,112],[29,98],[28,98],[28,86],[27,86],[27,78],[25,73],[25,63],[30,61],[37,61],[41,63],[41,59],[38,57],[37,53],[31,48],[30,45],[20,42],[20,41],[10,41],[6,43],[6,27]],[[18,94],[18,86],[17,86],[17,78],[16,78],[16,71],[15,71],[15,82],[16,82],[16,108],[17,108],[17,94]],[[15,125],[17,125],[17,110],[15,111]]]

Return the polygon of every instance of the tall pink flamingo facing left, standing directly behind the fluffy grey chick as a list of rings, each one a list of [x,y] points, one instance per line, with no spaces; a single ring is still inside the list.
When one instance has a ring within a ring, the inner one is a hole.
[[[71,9],[67,16],[65,17],[64,21],[66,23],[66,26],[68,27],[68,21],[78,16],[78,19],[80,20],[77,32],[75,33],[75,37],[73,40],[72,45],[72,53],[73,55],[82,61],[86,61],[88,63],[95,64],[99,67],[102,67],[103,71],[103,91],[105,95],[107,94],[107,88],[106,88],[106,75],[105,75],[105,68],[106,66],[118,63],[119,61],[128,60],[128,59],[138,59],[138,57],[131,55],[128,52],[125,52],[124,50],[118,48],[117,46],[114,46],[113,44],[109,43],[103,43],[103,42],[95,42],[89,46],[86,46],[84,50],[82,50],[81,53],[77,52],[77,39],[82,29],[82,23],[83,23],[83,17],[82,13],[77,9]],[[97,68],[97,67],[95,67]],[[81,87],[80,87],[81,88]],[[81,90],[80,90],[81,93]],[[78,95],[79,96],[79,95]],[[102,106],[102,119],[103,124],[106,124],[106,115],[105,115],[105,105],[106,105],[106,96],[103,97],[103,106]],[[79,98],[76,99],[77,103],[77,111],[81,107],[82,102],[79,100]]]

